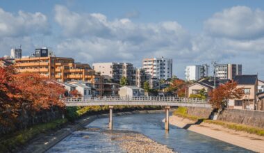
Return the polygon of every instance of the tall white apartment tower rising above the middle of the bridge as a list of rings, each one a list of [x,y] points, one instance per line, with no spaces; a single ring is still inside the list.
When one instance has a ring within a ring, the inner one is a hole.
[[[172,59],[170,58],[144,58],[142,68],[153,78],[165,80],[172,78]]]

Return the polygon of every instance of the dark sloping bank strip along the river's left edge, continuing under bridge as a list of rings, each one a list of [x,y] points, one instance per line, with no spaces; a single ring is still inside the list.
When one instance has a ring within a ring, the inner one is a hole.
[[[114,113],[113,116],[121,116],[121,115],[133,115],[133,114],[144,114],[144,113],[164,113],[164,110],[153,110],[153,111],[132,111],[132,112],[122,112],[122,113]],[[80,120],[76,120],[75,124],[69,124],[63,129],[59,129],[58,131],[53,132],[52,134],[45,134],[44,136],[38,136],[31,140],[28,145],[24,147],[24,150],[20,152],[46,152],[49,148],[56,145],[58,142],[72,134],[74,131],[78,131],[81,129],[85,129],[90,122],[98,119],[98,118],[108,118],[108,114],[101,115],[90,115]]]

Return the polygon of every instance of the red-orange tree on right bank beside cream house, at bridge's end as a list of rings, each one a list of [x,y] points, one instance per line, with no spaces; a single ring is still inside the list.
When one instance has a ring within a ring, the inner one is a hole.
[[[209,92],[210,103],[214,108],[228,106],[229,99],[240,99],[244,95],[243,88],[237,88],[236,81],[227,82]]]

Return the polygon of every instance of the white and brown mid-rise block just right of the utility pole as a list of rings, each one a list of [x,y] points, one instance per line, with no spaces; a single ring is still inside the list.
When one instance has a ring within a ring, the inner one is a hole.
[[[219,64],[215,67],[215,76],[220,79],[234,79],[236,75],[242,74],[242,65],[240,64]]]

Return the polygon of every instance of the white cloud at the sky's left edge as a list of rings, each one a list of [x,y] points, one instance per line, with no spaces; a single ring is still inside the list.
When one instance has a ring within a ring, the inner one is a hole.
[[[17,37],[34,33],[47,34],[50,26],[42,13],[25,13],[21,10],[14,15],[0,8],[0,37]]]

